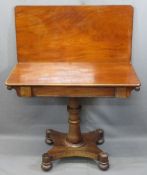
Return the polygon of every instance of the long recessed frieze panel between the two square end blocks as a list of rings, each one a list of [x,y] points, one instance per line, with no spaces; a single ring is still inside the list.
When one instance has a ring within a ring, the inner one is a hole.
[[[38,86],[32,87],[32,96],[49,97],[115,97],[115,88],[77,86]],[[19,91],[21,92],[21,90]],[[22,94],[21,94],[22,96]]]

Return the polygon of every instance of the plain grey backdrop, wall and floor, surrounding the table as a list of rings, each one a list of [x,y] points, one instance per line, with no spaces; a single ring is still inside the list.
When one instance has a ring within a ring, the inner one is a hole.
[[[110,154],[107,173],[145,175],[147,172],[147,1],[146,0],[1,0],[0,1],[0,175],[44,174],[41,154],[45,128],[67,131],[67,99],[19,98],[4,85],[17,62],[14,7],[16,5],[131,4],[134,7],[132,63],[141,80],[140,92],[129,99],[84,99],[82,130],[102,127]],[[50,174],[101,174],[93,161],[66,159],[54,163]]]

